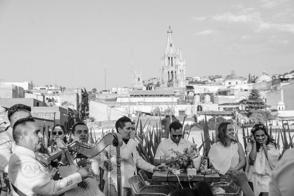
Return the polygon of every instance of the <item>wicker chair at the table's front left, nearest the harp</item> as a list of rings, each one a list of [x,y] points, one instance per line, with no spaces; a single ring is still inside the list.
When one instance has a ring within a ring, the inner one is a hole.
[[[134,175],[130,177],[129,183],[137,196],[167,196],[175,187],[164,185],[147,186],[140,176]]]

